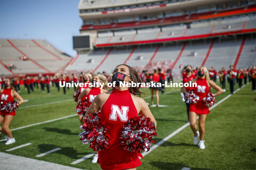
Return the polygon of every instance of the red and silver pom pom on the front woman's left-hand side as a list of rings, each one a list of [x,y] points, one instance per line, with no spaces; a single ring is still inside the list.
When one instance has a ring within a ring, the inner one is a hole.
[[[100,114],[95,116],[90,114],[84,118],[84,124],[80,126],[83,131],[79,134],[79,137],[83,144],[89,143],[89,148],[93,151],[106,149],[110,143],[110,138],[107,133],[108,127],[103,126],[100,122]]]

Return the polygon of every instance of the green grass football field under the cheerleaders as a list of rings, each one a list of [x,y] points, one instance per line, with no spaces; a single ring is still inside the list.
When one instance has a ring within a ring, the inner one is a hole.
[[[138,169],[255,169],[256,103],[253,98],[256,93],[251,91],[251,86],[245,86],[207,115],[204,150],[193,145],[193,133],[188,126],[141,159],[142,166]],[[142,98],[150,103],[150,90],[143,88],[142,91],[145,93]],[[21,87],[20,95],[28,101],[20,106],[10,129],[76,114],[73,94],[73,88],[64,95],[62,89],[58,92],[57,88],[51,87],[51,95],[39,89],[28,95]],[[229,90],[218,96],[217,102],[227,95]],[[187,123],[186,105],[181,102],[179,88],[166,88],[165,95],[159,98],[159,104],[167,107],[150,107],[157,121],[156,143]],[[89,145],[79,141],[79,125],[75,115],[15,130],[13,136],[17,142],[9,146],[1,142],[0,151],[7,152],[6,149],[32,143],[7,153],[81,169],[100,169],[99,164],[91,163],[92,157],[70,164],[93,152]],[[35,157],[54,148],[61,149]]]

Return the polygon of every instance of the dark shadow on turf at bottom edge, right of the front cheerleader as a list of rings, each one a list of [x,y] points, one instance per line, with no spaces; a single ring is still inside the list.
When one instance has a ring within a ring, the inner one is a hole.
[[[165,162],[150,162],[149,164],[157,167],[157,169],[182,169],[183,167],[188,167],[184,164],[179,164],[179,163],[165,163]],[[209,170],[206,168],[190,168],[190,169],[205,169],[205,170]]]

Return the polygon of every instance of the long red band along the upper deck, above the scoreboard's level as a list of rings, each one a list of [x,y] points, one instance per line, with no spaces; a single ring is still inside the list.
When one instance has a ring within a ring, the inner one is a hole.
[[[137,27],[140,25],[154,25],[154,24],[169,24],[169,23],[178,23],[182,21],[194,21],[194,20],[203,20],[203,19],[212,19],[225,17],[230,15],[245,14],[256,11],[256,5],[250,5],[246,7],[239,7],[230,10],[223,11],[212,11],[204,13],[194,13],[190,16],[181,15],[181,16],[172,16],[165,19],[149,20],[149,21],[132,21],[132,22],[123,22],[123,23],[111,23],[103,25],[83,25],[81,30],[90,30],[90,29],[112,29],[112,28],[124,28],[124,27]]]

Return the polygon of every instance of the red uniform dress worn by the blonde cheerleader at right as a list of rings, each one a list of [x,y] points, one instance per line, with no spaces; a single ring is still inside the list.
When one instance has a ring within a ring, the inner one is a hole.
[[[209,92],[209,86],[206,79],[197,78],[197,87],[193,89],[195,94],[199,97],[196,104],[189,106],[189,112],[195,112],[196,114],[206,115],[209,114],[209,108],[204,105],[203,98],[207,96]]]

